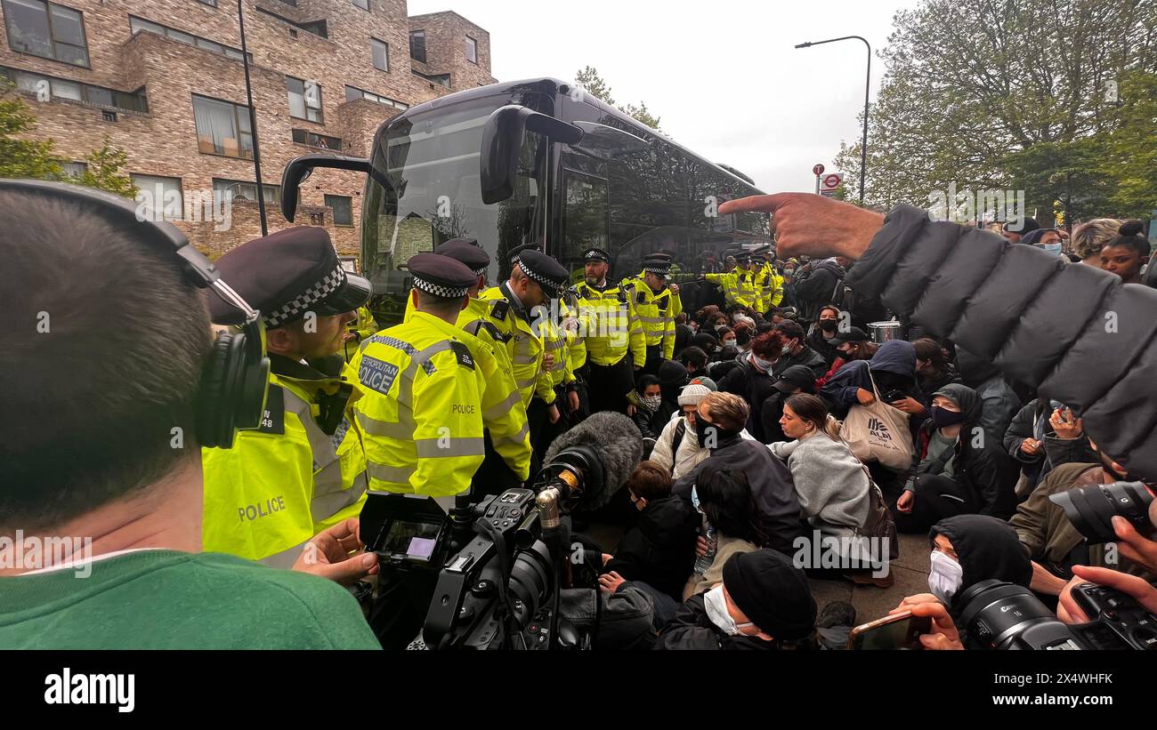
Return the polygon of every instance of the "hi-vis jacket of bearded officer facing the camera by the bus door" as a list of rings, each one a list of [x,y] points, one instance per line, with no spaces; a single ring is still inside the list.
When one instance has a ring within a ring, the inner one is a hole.
[[[620,286],[603,291],[583,282],[578,290],[580,333],[587,342],[587,359],[595,365],[617,365],[631,352],[634,364],[647,362],[647,338],[632,297]]]

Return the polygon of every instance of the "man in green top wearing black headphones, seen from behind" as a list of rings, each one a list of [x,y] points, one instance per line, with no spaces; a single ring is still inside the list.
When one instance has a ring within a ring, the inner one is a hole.
[[[82,545],[0,563],[0,649],[376,648],[334,581],[202,552],[201,446],[258,425],[268,368],[260,316],[214,266],[130,200],[39,180],[0,180],[0,379],[21,383],[0,545]],[[214,338],[198,289],[242,332]],[[351,528],[319,536],[312,572],[373,572],[346,559]]]

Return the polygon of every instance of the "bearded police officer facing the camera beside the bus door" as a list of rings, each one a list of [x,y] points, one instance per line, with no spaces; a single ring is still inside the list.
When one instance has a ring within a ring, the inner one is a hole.
[[[602,248],[583,253],[585,281],[578,284],[578,313],[587,343],[590,412],[627,412],[635,371],[647,362],[647,340],[634,298],[607,275],[611,255]]]

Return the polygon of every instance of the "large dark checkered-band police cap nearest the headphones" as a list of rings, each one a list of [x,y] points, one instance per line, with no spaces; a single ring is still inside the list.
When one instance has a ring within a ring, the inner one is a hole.
[[[270,329],[314,312],[353,312],[369,300],[369,281],[341,268],[325,229],[297,225],[237,246],[216,260],[227,281]],[[237,325],[241,313],[215,297],[209,313],[218,325]]]

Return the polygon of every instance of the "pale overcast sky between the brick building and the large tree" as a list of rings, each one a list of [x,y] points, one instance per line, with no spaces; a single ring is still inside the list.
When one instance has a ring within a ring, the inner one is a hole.
[[[590,65],[620,105],[646,102],[664,132],[766,192],[811,191],[811,169],[860,139],[867,51],[919,0],[410,0],[455,10],[491,33],[499,81],[573,81]],[[872,58],[872,99],[883,64]],[[869,147],[871,140],[869,140]]]

